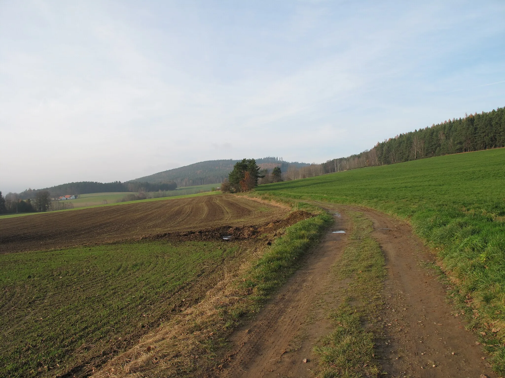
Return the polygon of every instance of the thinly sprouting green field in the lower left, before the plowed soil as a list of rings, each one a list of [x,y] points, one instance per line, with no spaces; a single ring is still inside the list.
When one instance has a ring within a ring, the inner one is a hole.
[[[198,301],[243,251],[157,241],[0,255],[0,376],[89,373]]]

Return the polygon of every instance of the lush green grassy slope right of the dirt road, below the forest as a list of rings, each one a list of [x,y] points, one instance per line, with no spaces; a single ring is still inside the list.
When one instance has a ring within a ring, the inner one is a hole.
[[[261,185],[257,193],[358,204],[409,220],[458,284],[453,295],[505,372],[505,149]]]

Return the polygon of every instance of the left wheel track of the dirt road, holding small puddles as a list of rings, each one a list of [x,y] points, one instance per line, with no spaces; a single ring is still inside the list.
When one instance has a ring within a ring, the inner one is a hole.
[[[334,227],[348,229],[349,224],[346,219],[336,218]],[[225,357],[228,365],[220,377],[312,376],[308,369],[313,366],[301,360],[310,356],[308,340],[327,333],[329,326],[323,308],[315,308],[314,299],[331,299],[331,293],[324,294],[332,281],[329,268],[346,244],[347,234],[325,236],[258,317],[236,332],[234,348]],[[305,341],[296,346],[299,335],[305,335]]]

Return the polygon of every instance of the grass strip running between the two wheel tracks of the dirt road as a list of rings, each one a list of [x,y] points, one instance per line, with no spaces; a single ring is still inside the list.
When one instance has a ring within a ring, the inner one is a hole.
[[[383,305],[381,290],[386,276],[384,256],[370,237],[372,222],[363,213],[349,212],[350,243],[333,267],[336,278],[348,280],[339,307],[330,313],[335,329],[314,348],[320,357],[320,376],[355,378],[377,376],[380,364],[374,358],[373,324]],[[369,328],[367,330],[367,328]]]

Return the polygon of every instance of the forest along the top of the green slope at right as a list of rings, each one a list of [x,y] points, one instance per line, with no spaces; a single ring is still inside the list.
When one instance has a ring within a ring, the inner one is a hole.
[[[288,168],[297,179],[349,169],[401,163],[427,157],[505,147],[505,108],[449,119],[378,142],[371,150],[307,167]]]

